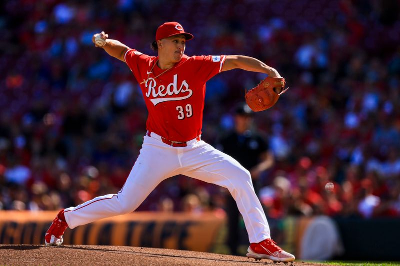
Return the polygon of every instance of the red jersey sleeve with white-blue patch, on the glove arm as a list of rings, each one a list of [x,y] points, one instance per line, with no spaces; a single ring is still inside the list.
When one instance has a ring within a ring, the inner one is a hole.
[[[201,55],[196,56],[195,60],[199,63],[196,75],[200,75],[205,81],[215,76],[222,70],[225,55]]]

